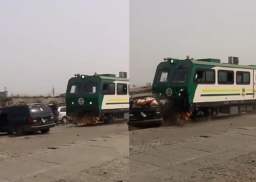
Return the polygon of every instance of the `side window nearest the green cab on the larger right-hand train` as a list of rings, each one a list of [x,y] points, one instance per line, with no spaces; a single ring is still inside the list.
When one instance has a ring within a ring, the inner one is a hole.
[[[197,70],[194,83],[197,84],[215,84],[215,70]]]

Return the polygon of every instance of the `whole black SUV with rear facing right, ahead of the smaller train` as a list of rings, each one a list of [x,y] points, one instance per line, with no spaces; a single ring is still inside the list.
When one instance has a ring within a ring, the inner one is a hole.
[[[45,104],[18,104],[0,108],[0,132],[16,132],[17,136],[23,136],[28,132],[47,133],[54,126],[53,111]]]

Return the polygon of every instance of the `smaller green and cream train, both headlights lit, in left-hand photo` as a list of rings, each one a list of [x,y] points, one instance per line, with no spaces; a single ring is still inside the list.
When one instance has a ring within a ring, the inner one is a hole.
[[[68,81],[65,101],[69,122],[74,124],[127,119],[129,79],[115,74],[75,74]]]

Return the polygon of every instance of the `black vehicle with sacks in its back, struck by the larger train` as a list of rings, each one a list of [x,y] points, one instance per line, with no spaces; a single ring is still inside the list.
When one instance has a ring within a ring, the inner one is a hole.
[[[153,95],[130,97],[128,126],[163,125],[160,102]]]

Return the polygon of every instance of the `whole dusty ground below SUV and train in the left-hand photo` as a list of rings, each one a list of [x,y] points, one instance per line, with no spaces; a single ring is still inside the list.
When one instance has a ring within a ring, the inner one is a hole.
[[[21,137],[1,134],[0,182],[113,181],[113,177],[125,181],[128,145],[126,121],[100,126],[56,126],[48,134]],[[118,165],[123,170],[117,170]],[[94,174],[90,173],[93,169]],[[116,169],[119,177],[113,176],[110,169]]]

